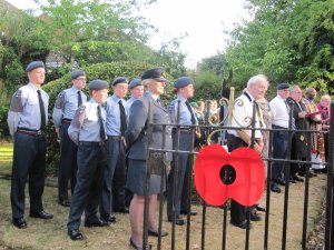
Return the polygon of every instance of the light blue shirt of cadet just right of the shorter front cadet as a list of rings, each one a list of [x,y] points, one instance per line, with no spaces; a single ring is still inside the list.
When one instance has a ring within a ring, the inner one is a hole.
[[[120,111],[118,102],[121,101],[127,117],[127,102],[112,94],[107,100],[107,134],[108,136],[120,136]]]

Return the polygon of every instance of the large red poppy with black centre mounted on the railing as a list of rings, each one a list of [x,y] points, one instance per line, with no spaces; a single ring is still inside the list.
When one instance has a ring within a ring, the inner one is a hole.
[[[222,206],[233,198],[250,207],[261,199],[265,187],[265,167],[261,156],[243,147],[228,153],[222,146],[204,147],[195,161],[195,187],[202,199]]]

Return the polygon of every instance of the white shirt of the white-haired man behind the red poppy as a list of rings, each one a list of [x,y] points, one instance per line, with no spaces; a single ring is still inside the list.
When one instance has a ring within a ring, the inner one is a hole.
[[[253,118],[253,106],[254,106],[254,98],[250,93],[242,94],[235,101],[235,106],[233,108],[233,117],[232,117],[232,127],[239,127],[239,128],[249,128],[252,126],[252,118]],[[255,116],[255,128],[265,129],[266,126],[263,120],[263,114],[261,108],[259,116]],[[252,130],[244,130],[252,137]],[[228,130],[229,134],[238,137],[237,130]],[[255,139],[262,138],[261,130],[255,130]]]

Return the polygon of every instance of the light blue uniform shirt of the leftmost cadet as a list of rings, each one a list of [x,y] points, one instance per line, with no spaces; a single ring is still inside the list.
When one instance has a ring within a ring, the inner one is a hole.
[[[13,136],[19,128],[40,130],[41,116],[37,90],[40,90],[46,110],[46,124],[48,123],[49,96],[42,89],[29,82],[21,87],[12,96],[8,112],[8,127],[10,134]]]

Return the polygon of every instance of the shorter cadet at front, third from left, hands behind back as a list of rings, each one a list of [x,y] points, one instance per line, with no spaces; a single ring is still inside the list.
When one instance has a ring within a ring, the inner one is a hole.
[[[104,227],[107,222],[97,217],[106,168],[106,110],[101,103],[108,98],[108,82],[94,80],[88,84],[91,99],[76,111],[68,128],[70,139],[78,146],[77,184],[68,216],[68,236],[82,240],[79,231],[85,210],[85,227]]]

